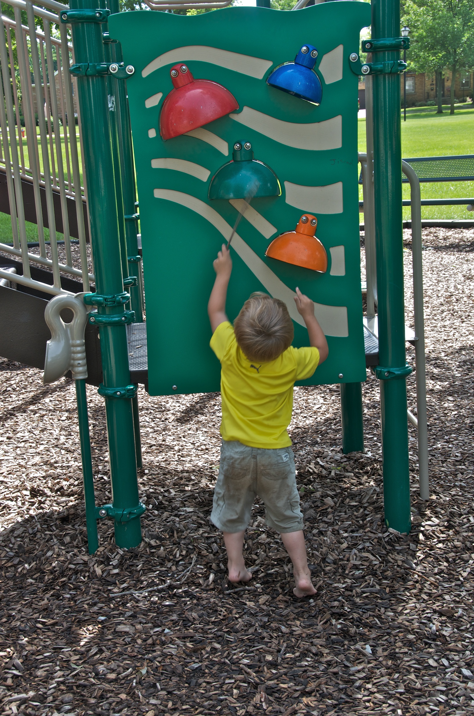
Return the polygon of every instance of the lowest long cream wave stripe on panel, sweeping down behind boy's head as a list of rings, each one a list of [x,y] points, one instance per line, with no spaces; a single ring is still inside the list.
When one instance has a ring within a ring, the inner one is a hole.
[[[191,211],[195,211],[195,213],[198,213],[205,218],[206,221],[211,223],[227,241],[231,238],[231,225],[211,206],[205,204],[195,196],[173,189],[155,189],[153,190],[153,195],[157,199],[173,201],[185,206]],[[269,266],[243,241],[243,238],[238,236],[238,233],[235,233],[233,236],[232,246],[242,261],[246,263],[248,268],[252,271],[253,275],[260,281],[262,286],[269,291],[269,294],[276,299],[284,301],[291,318],[296,323],[304,326],[304,321],[296,310],[296,304],[294,303],[294,296],[296,296],[296,294],[294,291],[291,291],[291,289],[271,271]],[[327,336],[345,338],[349,335],[346,306],[327,306],[325,304],[315,303],[314,315]]]

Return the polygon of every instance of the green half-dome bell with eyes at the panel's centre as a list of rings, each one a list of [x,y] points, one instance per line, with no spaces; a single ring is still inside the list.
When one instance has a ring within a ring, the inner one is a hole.
[[[248,199],[280,196],[281,186],[273,170],[253,159],[250,142],[233,145],[232,161],[217,170],[209,185],[210,199]]]

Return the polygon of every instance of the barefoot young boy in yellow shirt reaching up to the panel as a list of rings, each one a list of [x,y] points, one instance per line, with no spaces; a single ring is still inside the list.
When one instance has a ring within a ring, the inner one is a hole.
[[[281,534],[293,562],[294,594],[315,593],[306,558],[303,515],[296,488],[294,455],[286,428],[296,380],[311,377],[327,359],[314,303],[296,289],[296,308],[308,329],[308,348],[294,348],[294,327],[283,301],[253,294],[234,321],[226,316],[232,272],[225,244],[213,263],[216,281],[208,303],[211,348],[221,361],[221,463],[211,520],[223,531],[231,582],[249,581],[243,538],[256,495],[266,523]]]

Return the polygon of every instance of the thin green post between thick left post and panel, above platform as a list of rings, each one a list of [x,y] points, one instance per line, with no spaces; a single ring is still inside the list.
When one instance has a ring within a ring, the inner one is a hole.
[[[119,0],[107,0],[112,13],[120,12]],[[112,62],[122,62],[122,46],[120,42],[109,44]],[[138,215],[135,211],[137,198],[135,189],[135,166],[133,163],[132,129],[128,112],[127,85],[124,80],[115,82],[115,122],[117,125],[118,150],[120,153],[120,175],[122,184],[122,205],[125,216],[125,245],[127,249],[127,276],[135,276],[137,286],[130,286],[132,310],[135,311],[135,322],[143,321],[143,286],[141,263],[138,254]]]

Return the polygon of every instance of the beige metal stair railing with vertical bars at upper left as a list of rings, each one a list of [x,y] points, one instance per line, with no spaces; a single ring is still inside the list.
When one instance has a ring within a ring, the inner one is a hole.
[[[8,189],[8,208],[4,201],[2,211],[9,211],[11,217],[11,242],[0,243],[0,251],[21,262],[22,274],[16,271],[16,284],[55,295],[68,293],[62,288],[61,274],[81,279],[84,291],[89,291],[94,276],[87,269],[80,120],[74,107],[75,80],[69,74],[72,45],[58,16],[67,6],[54,0],[42,4],[41,8],[29,0],[2,4],[0,173],[5,175]],[[32,213],[37,241],[28,241],[26,233],[25,216],[31,218]],[[72,225],[79,241],[79,262],[71,251]],[[64,237],[64,263],[59,261],[58,226]],[[38,254],[29,251],[35,243]],[[32,279],[31,263],[52,273],[52,285]],[[7,267],[0,266],[0,279],[9,278]]]

